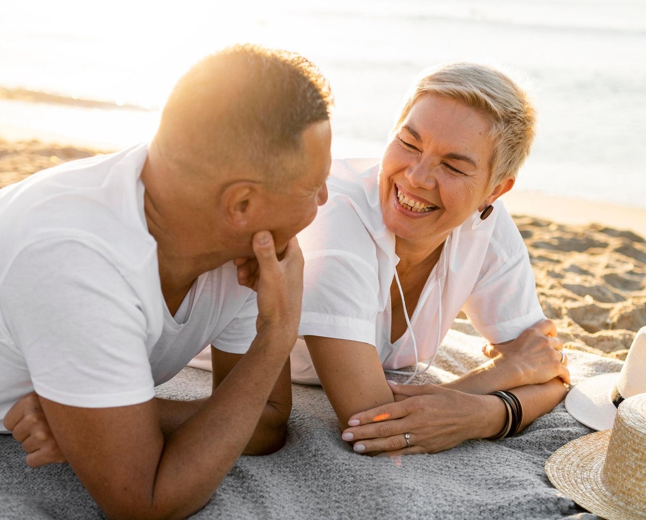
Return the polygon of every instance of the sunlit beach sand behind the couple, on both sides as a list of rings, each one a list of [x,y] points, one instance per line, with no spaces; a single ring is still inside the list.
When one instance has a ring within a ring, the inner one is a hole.
[[[0,140],[0,187],[98,153]],[[625,359],[646,325],[646,211],[529,192],[505,197],[525,239],[541,305],[565,347]]]

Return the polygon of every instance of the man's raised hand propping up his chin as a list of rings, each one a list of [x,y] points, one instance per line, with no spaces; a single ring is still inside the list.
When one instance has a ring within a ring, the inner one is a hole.
[[[238,283],[258,293],[256,329],[280,326],[296,341],[303,300],[303,255],[296,237],[289,240],[279,259],[269,231],[259,231],[251,242],[255,259],[237,258]],[[285,338],[290,342],[290,338]]]

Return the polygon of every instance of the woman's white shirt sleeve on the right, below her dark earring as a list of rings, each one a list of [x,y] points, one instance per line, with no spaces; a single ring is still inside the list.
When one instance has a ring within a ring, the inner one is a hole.
[[[479,280],[463,307],[474,327],[492,343],[515,339],[545,318],[527,248],[508,220],[510,225],[503,222],[503,232],[492,236]]]

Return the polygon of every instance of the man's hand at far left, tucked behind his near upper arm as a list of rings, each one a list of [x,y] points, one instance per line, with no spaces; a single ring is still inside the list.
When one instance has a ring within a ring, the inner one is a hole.
[[[26,463],[32,468],[65,463],[65,455],[54,439],[36,392],[21,397],[5,415],[5,428],[27,452]]]

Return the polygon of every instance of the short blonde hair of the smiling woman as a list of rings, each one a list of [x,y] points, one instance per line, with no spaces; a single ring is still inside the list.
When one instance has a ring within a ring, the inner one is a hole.
[[[536,134],[536,110],[525,90],[499,70],[478,63],[450,63],[424,70],[413,84],[394,131],[424,95],[452,98],[481,112],[490,121],[488,137],[494,143],[490,185],[516,178]]]

